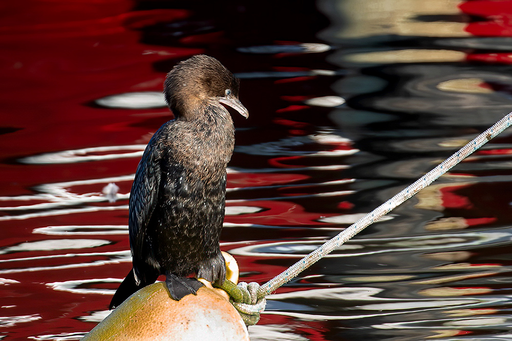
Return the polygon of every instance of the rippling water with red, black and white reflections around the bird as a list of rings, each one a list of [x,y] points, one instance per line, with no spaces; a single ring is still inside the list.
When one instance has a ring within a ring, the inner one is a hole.
[[[160,92],[178,60],[212,55],[242,79],[222,249],[245,281],[279,274],[512,107],[505,1],[0,6],[5,340],[79,339],[108,313],[131,267],[133,173],[172,117]],[[251,338],[512,339],[511,140],[271,295]]]

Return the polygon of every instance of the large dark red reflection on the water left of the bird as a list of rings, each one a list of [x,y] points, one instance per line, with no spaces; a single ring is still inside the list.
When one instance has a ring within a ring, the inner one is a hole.
[[[4,160],[0,180],[2,195],[17,197],[32,194],[31,187],[39,184],[100,179],[133,172],[138,163],[133,157],[92,164],[27,166],[12,163],[20,157],[43,152],[144,144],[150,137],[148,131],[154,131],[170,118],[165,109],[103,109],[88,105],[112,94],[160,91],[164,74],[154,70],[153,62],[179,60],[204,51],[140,43],[139,29],[159,22],[183,20],[190,13],[166,9],[132,11],[133,7],[131,1],[33,1],[0,5],[0,106],[2,131],[6,132],[0,137]],[[130,183],[131,180],[126,181],[121,193],[129,191]],[[78,191],[71,187],[70,192],[101,192],[104,185],[90,185],[91,188]],[[77,213],[66,214],[59,212],[66,209],[66,199],[61,201],[63,206],[56,207],[49,216],[44,213],[38,216],[38,213],[48,212],[42,209],[28,211],[34,218],[0,222],[3,247],[9,250],[12,245],[28,243],[19,251],[14,248],[0,256],[3,260],[19,260],[4,262],[0,270],[0,277],[19,282],[4,284],[2,288],[1,315],[4,317],[0,333],[7,335],[7,339],[66,335],[91,329],[94,324],[77,318],[84,312],[103,309],[109,297],[56,291],[49,283],[119,277],[125,272],[126,266],[98,265],[109,258],[102,253],[124,251],[129,247],[126,235],[107,235],[106,238],[71,235],[66,239],[33,234],[32,231],[41,226],[126,224],[125,209],[80,213],[80,208],[85,206],[77,202],[71,206]],[[3,206],[19,206],[36,202],[10,200],[2,203]],[[125,200],[117,203],[125,204]],[[100,202],[97,205],[105,206]],[[4,217],[16,214],[19,212],[4,212]],[[86,244],[92,241],[91,245],[97,246],[93,254],[83,255],[80,240],[89,240]],[[45,241],[45,245],[37,244],[41,241]],[[73,256],[75,252],[80,255]],[[108,287],[116,285],[112,283]]]

